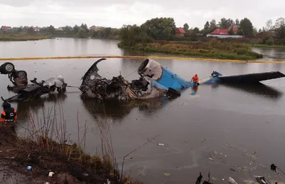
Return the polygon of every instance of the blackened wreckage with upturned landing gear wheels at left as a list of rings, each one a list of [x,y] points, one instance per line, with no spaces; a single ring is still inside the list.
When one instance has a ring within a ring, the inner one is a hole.
[[[58,91],[58,93],[65,93],[67,83],[64,82],[62,76],[56,76],[54,78],[48,78],[46,81],[38,82],[37,78],[31,80],[31,84],[28,84],[28,78],[26,71],[16,71],[13,63],[3,63],[0,66],[1,74],[8,74],[10,81],[14,86],[7,86],[9,91],[17,93],[16,96],[4,99],[2,101],[25,101],[29,98],[38,98],[44,94]]]

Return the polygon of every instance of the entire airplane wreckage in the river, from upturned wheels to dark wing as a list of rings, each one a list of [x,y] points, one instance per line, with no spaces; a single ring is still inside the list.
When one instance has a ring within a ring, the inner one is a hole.
[[[177,74],[160,65],[152,59],[145,59],[138,68],[140,78],[131,83],[125,80],[123,76],[113,77],[112,79],[102,78],[98,74],[98,63],[106,58],[100,58],[83,76],[83,81],[79,89],[83,98],[98,98],[128,101],[132,99],[147,99],[160,96],[180,96],[181,92],[195,85],[209,83],[259,83],[260,81],[281,78],[285,75],[278,71],[266,73],[251,73],[239,76],[222,76],[221,73],[213,71],[212,74],[195,84],[186,81]],[[13,63],[3,63],[0,66],[1,74],[8,74],[10,81],[14,86],[7,86],[9,91],[17,93],[3,101],[24,101],[29,98],[38,98],[46,93],[58,91],[65,93],[67,83],[62,76],[49,78],[40,83],[34,78],[31,84],[28,84],[26,71],[16,71]],[[69,86],[70,87],[70,86]]]

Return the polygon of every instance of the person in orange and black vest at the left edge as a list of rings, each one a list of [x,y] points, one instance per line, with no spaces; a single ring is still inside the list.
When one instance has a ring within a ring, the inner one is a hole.
[[[7,101],[4,101],[2,107],[3,111],[1,113],[0,122],[4,123],[6,126],[9,126],[11,123],[14,123],[17,120],[17,111],[15,108],[11,107],[11,104]],[[11,130],[15,131],[14,125],[11,125]]]

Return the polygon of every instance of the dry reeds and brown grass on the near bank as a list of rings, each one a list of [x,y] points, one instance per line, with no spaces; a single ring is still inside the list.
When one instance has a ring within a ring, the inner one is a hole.
[[[58,111],[59,115],[56,115]],[[59,118],[56,118],[57,116]],[[98,123],[102,155],[91,156],[85,152],[88,128],[85,122],[83,135],[80,135],[82,123],[78,116],[78,143],[72,144],[67,144],[70,140],[66,132],[66,120],[61,107],[57,110],[56,108],[48,110],[46,116],[43,111],[41,120],[34,114],[30,114],[29,118],[24,137],[13,137],[11,133],[3,131],[3,127],[0,128],[2,143],[0,148],[3,150],[0,153],[1,159],[13,158],[13,162],[17,165],[15,170],[24,172],[23,168],[30,165],[34,169],[32,172],[25,172],[25,175],[35,178],[43,177],[50,182],[58,181],[58,178],[56,176],[48,178],[49,171],[56,175],[62,173],[72,175],[76,180],[86,183],[105,183],[107,179],[111,183],[138,183],[130,177],[124,177],[123,170],[119,170],[113,153],[109,128],[106,130],[108,135],[106,136]],[[103,123],[105,126],[108,124],[107,122]],[[6,128],[6,130],[9,129]]]

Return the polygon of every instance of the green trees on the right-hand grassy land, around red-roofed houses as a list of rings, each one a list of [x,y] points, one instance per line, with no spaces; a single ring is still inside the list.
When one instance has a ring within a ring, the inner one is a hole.
[[[228,29],[229,34],[235,34],[233,28],[237,27],[236,34],[242,36],[256,36],[261,31],[276,31],[276,39],[283,40],[285,44],[285,18],[280,17],[273,25],[272,21],[266,21],[266,26],[257,31],[254,28],[252,21],[247,18],[226,19],[222,18],[217,23],[215,19],[207,21],[204,24],[204,29],[191,28],[186,23],[183,26],[185,30],[184,39],[197,41],[197,37],[206,36],[212,33],[215,29]],[[135,46],[136,44],[147,44],[153,40],[172,41],[175,40],[175,20],[173,18],[155,18],[147,20],[141,26],[138,25],[123,25],[120,29],[120,44],[119,46]],[[181,39],[181,38],[180,38]]]

